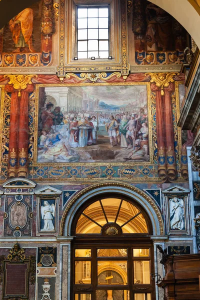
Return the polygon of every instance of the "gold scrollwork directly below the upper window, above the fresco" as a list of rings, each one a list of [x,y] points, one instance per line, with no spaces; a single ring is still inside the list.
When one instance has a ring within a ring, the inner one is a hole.
[[[120,72],[113,72],[110,75],[107,76],[106,72],[101,72],[101,73],[80,73],[79,76],[77,76],[74,73],[67,73],[65,75],[65,77],[67,79],[69,79],[70,77],[74,77],[78,80],[85,80],[85,79],[89,79],[92,82],[96,81],[97,79],[102,79],[102,80],[108,80],[111,77],[116,76],[117,78],[121,77],[121,73]]]

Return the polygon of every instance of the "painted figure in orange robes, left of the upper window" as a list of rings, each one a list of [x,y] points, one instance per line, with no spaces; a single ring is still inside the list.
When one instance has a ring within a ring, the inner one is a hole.
[[[34,52],[32,49],[33,10],[25,8],[9,21],[16,49],[13,52]]]

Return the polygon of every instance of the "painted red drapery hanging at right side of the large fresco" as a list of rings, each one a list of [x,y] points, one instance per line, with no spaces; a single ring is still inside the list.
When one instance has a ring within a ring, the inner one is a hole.
[[[170,82],[161,95],[160,87],[151,83],[150,88],[156,94],[157,161],[158,175],[162,179],[176,178],[174,133],[172,120],[171,92],[174,84]]]

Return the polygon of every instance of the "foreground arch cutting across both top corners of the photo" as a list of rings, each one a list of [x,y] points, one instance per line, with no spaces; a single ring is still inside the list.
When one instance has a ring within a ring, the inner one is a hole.
[[[37,0],[0,0],[0,28]],[[200,0],[149,0],[170,13],[189,32],[200,48]],[[57,1],[58,2],[58,1]]]

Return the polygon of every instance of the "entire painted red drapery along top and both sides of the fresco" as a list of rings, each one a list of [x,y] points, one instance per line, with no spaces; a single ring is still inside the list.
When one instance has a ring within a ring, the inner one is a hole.
[[[184,74],[174,75],[174,80],[184,80]],[[37,75],[31,79],[31,85],[21,90],[21,96],[12,85],[7,84],[8,79],[0,75],[0,83],[6,84],[5,90],[11,92],[10,107],[10,138],[9,138],[9,164],[8,176],[26,176],[27,175],[27,147],[28,147],[28,99],[29,92],[34,89],[37,83],[60,83],[56,75]],[[125,82],[149,82],[150,76],[144,73],[130,74]],[[90,82],[89,79],[84,82]],[[102,82],[97,79],[96,82]],[[105,82],[123,83],[122,77],[111,77]],[[64,78],[62,83],[80,83],[80,80],[74,77]],[[161,90],[154,83],[151,83],[151,90],[156,93],[156,123],[157,123],[157,147],[158,147],[158,174],[160,178],[174,180],[176,177],[175,154],[174,154],[174,136],[172,121],[171,92],[174,90],[174,84],[170,83],[164,88],[164,96],[161,96]],[[17,160],[18,159],[18,160]],[[10,162],[12,164],[10,164]]]

